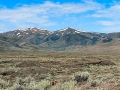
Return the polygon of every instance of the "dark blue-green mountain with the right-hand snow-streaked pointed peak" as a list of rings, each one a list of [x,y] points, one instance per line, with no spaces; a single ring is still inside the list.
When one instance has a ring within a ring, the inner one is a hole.
[[[46,39],[49,47],[54,49],[65,49],[71,45],[95,45],[100,41],[102,34],[84,32],[73,28],[64,28],[49,35]]]

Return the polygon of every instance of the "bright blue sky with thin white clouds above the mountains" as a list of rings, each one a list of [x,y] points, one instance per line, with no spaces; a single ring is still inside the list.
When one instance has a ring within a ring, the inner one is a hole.
[[[29,27],[120,32],[120,1],[0,0],[0,32]]]

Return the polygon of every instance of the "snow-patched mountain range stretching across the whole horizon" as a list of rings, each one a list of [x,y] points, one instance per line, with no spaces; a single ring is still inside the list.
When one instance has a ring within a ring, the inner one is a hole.
[[[102,50],[115,47],[116,42],[119,46],[119,40],[120,32],[85,32],[71,27],[52,32],[31,27],[0,33],[0,51]]]

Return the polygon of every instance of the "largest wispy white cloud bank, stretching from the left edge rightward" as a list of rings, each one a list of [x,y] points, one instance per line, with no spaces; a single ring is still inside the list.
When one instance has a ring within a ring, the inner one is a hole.
[[[66,14],[80,14],[87,11],[101,9],[101,4],[91,0],[84,0],[80,3],[54,3],[46,1],[43,4],[23,5],[13,9],[0,9],[1,28],[13,25],[15,28],[26,28],[32,26],[54,26],[58,22],[53,18],[58,18]],[[75,18],[75,17],[73,17]],[[4,25],[3,25],[4,24]],[[11,29],[13,28],[11,27]],[[9,28],[7,28],[8,30]]]

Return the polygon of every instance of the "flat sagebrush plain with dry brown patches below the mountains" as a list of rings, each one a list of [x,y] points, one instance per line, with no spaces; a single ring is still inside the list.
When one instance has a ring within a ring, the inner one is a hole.
[[[1,52],[0,90],[120,90],[120,54]]]

